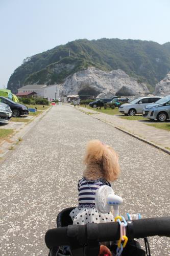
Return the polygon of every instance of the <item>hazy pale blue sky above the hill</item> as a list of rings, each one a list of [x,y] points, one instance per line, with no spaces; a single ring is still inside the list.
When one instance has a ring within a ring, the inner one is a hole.
[[[170,41],[170,0],[0,0],[0,88],[23,59],[80,38]]]

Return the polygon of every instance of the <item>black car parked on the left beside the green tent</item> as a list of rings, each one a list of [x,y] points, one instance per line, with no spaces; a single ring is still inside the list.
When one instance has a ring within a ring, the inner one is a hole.
[[[23,115],[28,115],[29,114],[29,109],[27,106],[22,105],[20,103],[16,103],[11,99],[5,98],[0,96],[1,102],[6,103],[10,106],[10,109],[12,110],[12,116],[13,117],[18,117],[18,116],[23,116]]]

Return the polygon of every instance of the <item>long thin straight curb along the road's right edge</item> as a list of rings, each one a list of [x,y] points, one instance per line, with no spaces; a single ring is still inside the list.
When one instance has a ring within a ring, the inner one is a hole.
[[[156,145],[156,144],[154,144],[154,143],[152,143],[152,142],[150,142],[150,141],[148,141],[148,140],[146,140],[146,139],[143,139],[143,138],[139,137],[138,135],[134,135],[134,134],[132,134],[132,133],[130,133],[130,132],[127,132],[126,130],[124,130],[124,129],[122,129],[122,128],[119,128],[118,126],[114,126],[113,124],[110,124],[110,123],[108,123],[108,122],[106,122],[106,121],[104,121],[104,120],[102,120],[102,119],[100,119],[100,118],[98,118],[98,117],[95,117],[95,116],[93,116],[93,115],[90,115],[90,114],[86,113],[86,112],[83,111],[83,110],[80,110],[80,109],[77,109],[77,110],[79,110],[80,112],[83,112],[83,113],[85,113],[86,115],[89,115],[89,116],[91,116],[91,117],[93,117],[93,118],[95,118],[95,119],[98,119],[98,120],[100,120],[100,121],[102,121],[102,122],[108,124],[109,126],[112,126],[112,127],[114,127],[115,129],[117,129],[117,130],[119,130],[119,131],[121,131],[121,132],[123,132],[123,133],[126,133],[126,134],[128,134],[128,135],[130,135],[130,136],[132,136],[132,137],[134,137],[134,138],[136,138],[136,139],[138,139],[138,140],[140,140],[140,141],[143,141],[143,142],[145,142],[145,143],[147,143],[147,144],[149,144],[149,145],[151,145],[151,146],[154,146],[154,147],[156,147],[158,150],[161,150],[161,151],[163,151],[164,153],[170,155],[170,151],[166,150],[164,147],[161,147],[161,146],[159,146],[159,145]]]

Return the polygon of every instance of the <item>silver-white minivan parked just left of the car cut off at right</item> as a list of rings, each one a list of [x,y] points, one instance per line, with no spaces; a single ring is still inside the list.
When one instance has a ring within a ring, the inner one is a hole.
[[[140,97],[130,101],[129,103],[119,106],[119,112],[124,115],[134,116],[136,114],[142,114],[144,106],[150,103],[154,103],[159,100],[160,96]]]

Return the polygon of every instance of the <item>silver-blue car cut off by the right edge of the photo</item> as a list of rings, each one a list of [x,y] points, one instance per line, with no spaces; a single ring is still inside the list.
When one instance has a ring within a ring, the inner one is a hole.
[[[170,119],[170,95],[159,99],[155,104],[145,106],[142,115],[145,118],[157,119],[160,122]]]

